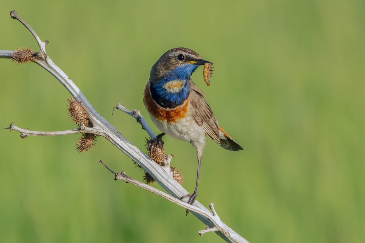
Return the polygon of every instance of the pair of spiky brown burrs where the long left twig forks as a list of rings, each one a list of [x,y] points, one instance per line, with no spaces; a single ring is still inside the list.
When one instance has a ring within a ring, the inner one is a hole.
[[[85,107],[78,102],[75,98],[67,99],[69,102],[68,111],[73,122],[75,122],[79,127],[86,126],[92,128],[93,124],[89,119],[89,114],[85,110]],[[96,143],[96,135],[90,133],[83,133],[77,141],[77,150],[79,153],[88,152],[92,149]]]

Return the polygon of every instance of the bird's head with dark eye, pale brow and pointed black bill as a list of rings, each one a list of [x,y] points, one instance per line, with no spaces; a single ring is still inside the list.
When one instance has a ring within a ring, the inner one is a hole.
[[[199,54],[188,48],[171,49],[166,51],[153,65],[150,72],[150,81],[152,83],[157,83],[162,79],[189,81],[196,68],[206,62],[208,61],[201,59]]]

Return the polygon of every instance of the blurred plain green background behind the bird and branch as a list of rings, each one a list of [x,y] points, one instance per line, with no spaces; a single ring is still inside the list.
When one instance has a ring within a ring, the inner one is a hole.
[[[122,102],[140,109],[151,66],[188,47],[214,62],[212,85],[192,76],[220,125],[244,148],[204,151],[198,200],[250,242],[365,240],[364,1],[7,1],[0,49],[43,41],[47,54],[92,105],[136,146],[146,133]],[[0,60],[0,125],[76,128],[64,87],[36,64]],[[222,242],[185,209],[115,182],[98,160],[141,179],[130,158],[98,138],[19,138],[0,131],[0,242]],[[184,187],[195,186],[196,154],[165,137]],[[157,188],[161,188],[156,185]]]

